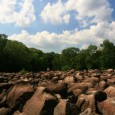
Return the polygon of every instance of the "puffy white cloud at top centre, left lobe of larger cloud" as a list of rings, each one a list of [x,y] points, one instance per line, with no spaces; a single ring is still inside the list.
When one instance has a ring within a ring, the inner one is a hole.
[[[45,23],[52,24],[68,23],[70,14],[66,12],[64,4],[59,0],[57,3],[48,3],[40,14]]]

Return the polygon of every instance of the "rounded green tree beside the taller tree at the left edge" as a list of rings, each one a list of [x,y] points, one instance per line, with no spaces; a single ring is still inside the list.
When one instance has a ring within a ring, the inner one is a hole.
[[[19,71],[28,64],[28,48],[21,42],[8,40],[4,48],[7,71]]]

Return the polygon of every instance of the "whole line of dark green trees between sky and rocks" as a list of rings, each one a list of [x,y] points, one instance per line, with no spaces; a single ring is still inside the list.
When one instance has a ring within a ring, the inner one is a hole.
[[[0,72],[51,70],[115,69],[115,45],[104,40],[100,46],[86,49],[69,47],[61,54],[28,48],[23,43],[7,39],[0,34]]]

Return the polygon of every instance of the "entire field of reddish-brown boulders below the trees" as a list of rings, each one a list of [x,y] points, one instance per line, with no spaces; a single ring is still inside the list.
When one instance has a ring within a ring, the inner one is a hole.
[[[0,73],[0,115],[115,115],[115,70]]]

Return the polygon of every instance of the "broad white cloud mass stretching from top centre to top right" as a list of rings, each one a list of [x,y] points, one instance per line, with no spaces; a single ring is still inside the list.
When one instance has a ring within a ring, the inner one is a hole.
[[[69,23],[71,11],[76,12],[75,18],[79,24],[86,27],[91,23],[111,21],[113,9],[110,8],[108,0],[59,0],[56,3],[48,3],[41,12],[41,18],[45,23]]]

